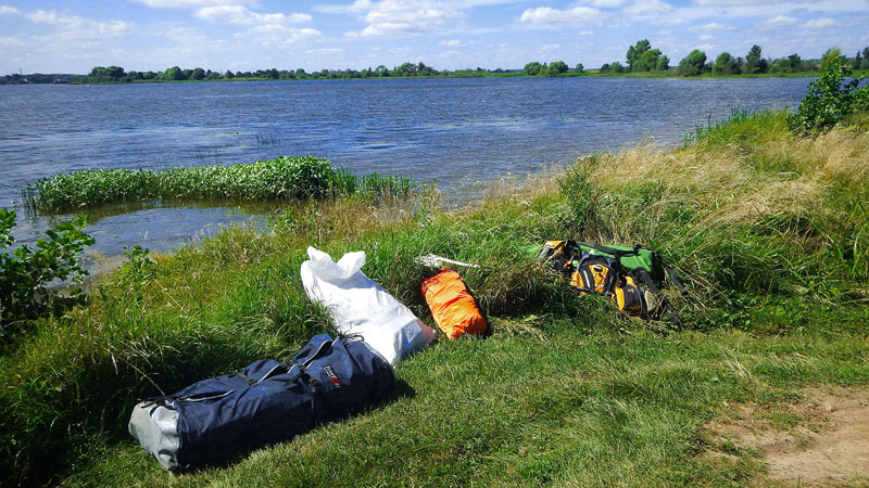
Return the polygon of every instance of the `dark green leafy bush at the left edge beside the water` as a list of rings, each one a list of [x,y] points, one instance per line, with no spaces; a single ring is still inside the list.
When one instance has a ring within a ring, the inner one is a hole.
[[[86,224],[87,217],[77,217],[46,231],[49,239],[37,241],[36,251],[23,245],[0,254],[0,342],[34,319],[84,303],[80,288],[64,296],[49,284],[80,282],[88,274],[78,261],[85,246],[93,244],[93,237],[81,232]],[[15,213],[0,208],[0,249],[15,242],[13,227]]]

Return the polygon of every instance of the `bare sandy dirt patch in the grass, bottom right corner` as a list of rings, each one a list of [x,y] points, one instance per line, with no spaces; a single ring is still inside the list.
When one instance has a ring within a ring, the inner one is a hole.
[[[869,390],[809,388],[795,403],[740,404],[710,422],[706,457],[756,458],[770,481],[869,486]]]

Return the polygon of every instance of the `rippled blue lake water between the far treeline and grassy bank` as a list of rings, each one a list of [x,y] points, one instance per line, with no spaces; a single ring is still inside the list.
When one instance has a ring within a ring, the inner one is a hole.
[[[448,203],[644,138],[676,144],[731,108],[798,105],[810,79],[483,78],[0,87],[0,207],[33,243],[53,219],[21,191],[81,169],[160,169],[315,155],[356,174],[436,181]],[[93,249],[167,251],[262,207],[90,211]],[[256,219],[255,217],[253,217]],[[95,219],[92,219],[95,220]],[[262,218],[259,219],[262,222]]]

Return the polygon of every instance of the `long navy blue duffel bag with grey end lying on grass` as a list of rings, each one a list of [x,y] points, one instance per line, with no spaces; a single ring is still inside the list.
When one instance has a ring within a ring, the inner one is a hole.
[[[171,471],[231,459],[360,412],[395,388],[363,341],[315,336],[290,362],[256,361],[137,404],[129,433]]]

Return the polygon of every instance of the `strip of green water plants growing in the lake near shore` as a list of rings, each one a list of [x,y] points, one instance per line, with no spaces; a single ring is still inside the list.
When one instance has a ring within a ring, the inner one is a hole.
[[[279,157],[234,166],[192,166],[165,170],[87,170],[46,178],[27,188],[25,198],[39,211],[75,210],[119,202],[266,201],[322,198],[352,193],[406,196],[406,178],[370,174],[356,177],[312,156]]]

